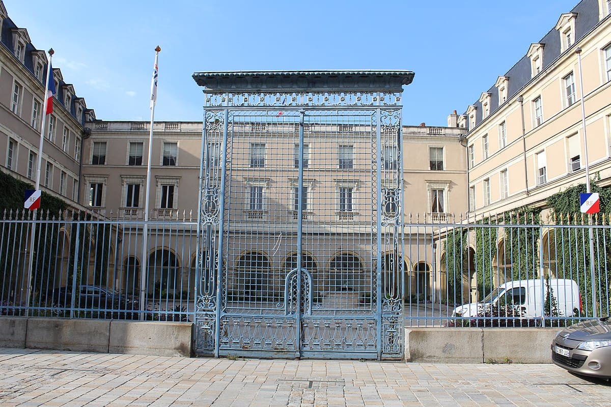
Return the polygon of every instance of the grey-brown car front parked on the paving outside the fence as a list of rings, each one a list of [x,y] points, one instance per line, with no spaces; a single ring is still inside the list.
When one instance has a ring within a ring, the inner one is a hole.
[[[609,317],[579,322],[558,332],[552,341],[552,361],[578,375],[611,378]]]

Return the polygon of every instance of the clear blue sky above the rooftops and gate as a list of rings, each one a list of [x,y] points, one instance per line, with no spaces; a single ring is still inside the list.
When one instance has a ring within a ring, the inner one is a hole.
[[[403,123],[431,126],[464,112],[576,4],[4,0],[102,120],[150,120],[159,45],[155,120],[201,120],[194,71],[392,69],[415,72]]]

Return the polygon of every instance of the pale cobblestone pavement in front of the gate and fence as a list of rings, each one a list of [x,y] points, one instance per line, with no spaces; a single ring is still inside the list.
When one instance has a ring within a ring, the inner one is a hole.
[[[552,364],[167,358],[0,348],[1,406],[609,406]]]

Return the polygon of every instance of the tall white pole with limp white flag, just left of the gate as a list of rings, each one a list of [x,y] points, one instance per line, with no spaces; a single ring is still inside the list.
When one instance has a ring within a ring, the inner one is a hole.
[[[142,228],[142,262],[140,267],[140,320],[144,320],[144,300],[146,297],[147,283],[147,246],[148,246],[148,192],[151,181],[151,156],[153,151],[153,122],[155,121],[155,104],[157,102],[157,75],[159,62],[159,45],[155,47],[155,67],[153,68],[153,79],[151,81],[151,123],[148,133],[148,160],[147,160],[147,186],[144,193],[144,228]]]

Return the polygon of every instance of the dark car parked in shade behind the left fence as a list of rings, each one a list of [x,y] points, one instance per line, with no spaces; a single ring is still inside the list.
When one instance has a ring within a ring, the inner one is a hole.
[[[57,308],[70,308],[72,287],[53,290],[51,303]],[[93,317],[137,319],[140,304],[137,298],[121,294],[117,290],[101,286],[79,286],[76,289],[75,308],[91,311]]]

